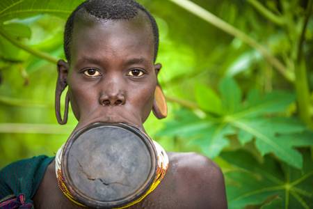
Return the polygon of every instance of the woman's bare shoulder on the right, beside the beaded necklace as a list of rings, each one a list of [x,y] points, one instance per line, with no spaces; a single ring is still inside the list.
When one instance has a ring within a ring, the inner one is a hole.
[[[217,164],[197,153],[168,153],[168,157],[180,195],[196,203],[193,208],[227,208],[224,177]]]

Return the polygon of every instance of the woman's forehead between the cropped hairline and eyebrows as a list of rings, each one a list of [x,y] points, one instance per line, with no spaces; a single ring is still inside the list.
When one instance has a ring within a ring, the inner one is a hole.
[[[144,58],[153,62],[152,26],[143,13],[129,20],[99,20],[79,17],[75,20],[71,43],[72,62],[93,59]]]

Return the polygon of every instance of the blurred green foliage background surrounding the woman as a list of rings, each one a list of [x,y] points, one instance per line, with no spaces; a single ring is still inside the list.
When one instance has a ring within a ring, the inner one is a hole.
[[[77,124],[56,122],[54,89],[81,2],[1,0],[0,168],[55,155]],[[152,139],[218,163],[230,208],[313,208],[312,0],[139,2],[159,24],[169,108],[145,123]]]

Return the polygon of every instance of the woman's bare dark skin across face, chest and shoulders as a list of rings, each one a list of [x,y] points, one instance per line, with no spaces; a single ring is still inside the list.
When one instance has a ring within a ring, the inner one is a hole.
[[[129,123],[143,129],[152,109],[160,64],[154,64],[154,41],[143,13],[131,20],[78,18],[70,63],[58,62],[60,82],[69,86],[79,121]],[[60,84],[60,85],[61,85]],[[227,208],[223,173],[195,153],[168,153],[169,169],[161,184],[130,208]],[[58,188],[52,162],[33,200],[35,208],[81,208]]]

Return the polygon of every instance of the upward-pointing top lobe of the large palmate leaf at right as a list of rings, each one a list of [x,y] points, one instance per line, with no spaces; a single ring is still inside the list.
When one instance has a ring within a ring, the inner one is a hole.
[[[223,107],[228,114],[241,109],[241,89],[232,77],[225,77],[219,84]]]

